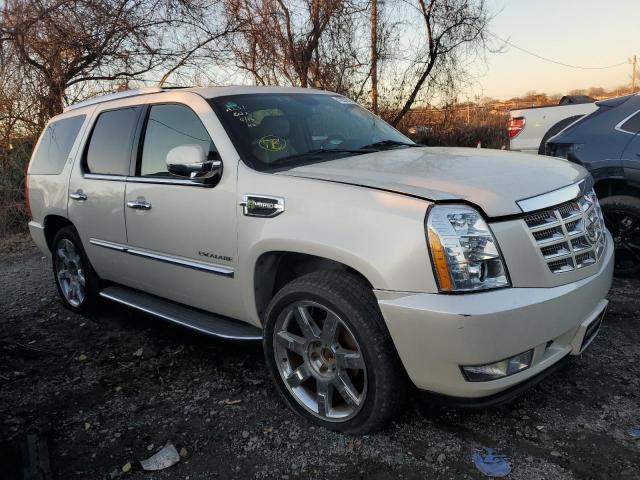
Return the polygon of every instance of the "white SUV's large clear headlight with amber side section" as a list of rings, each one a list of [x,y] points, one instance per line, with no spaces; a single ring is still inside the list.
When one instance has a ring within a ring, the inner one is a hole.
[[[434,205],[426,223],[431,261],[441,291],[510,285],[498,244],[476,210],[464,205]]]

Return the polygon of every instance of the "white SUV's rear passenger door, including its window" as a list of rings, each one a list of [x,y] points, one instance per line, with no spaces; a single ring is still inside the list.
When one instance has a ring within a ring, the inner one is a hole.
[[[69,182],[68,215],[101,278],[120,281],[127,243],[126,178],[141,107],[97,114]]]

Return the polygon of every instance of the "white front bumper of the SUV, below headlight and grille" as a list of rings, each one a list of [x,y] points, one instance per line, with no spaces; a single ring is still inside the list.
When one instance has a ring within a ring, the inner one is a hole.
[[[607,306],[613,242],[598,272],[553,288],[506,288],[445,295],[376,291],[391,337],[413,383],[452,397],[494,396],[527,382],[588,346],[588,326]],[[531,366],[487,382],[468,382],[461,365],[483,365],[534,349]]]

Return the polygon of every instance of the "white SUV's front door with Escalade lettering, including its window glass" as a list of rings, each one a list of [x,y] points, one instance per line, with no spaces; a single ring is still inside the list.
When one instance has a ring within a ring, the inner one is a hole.
[[[132,286],[237,316],[236,171],[224,169],[215,185],[170,174],[166,158],[173,148],[198,145],[217,156],[216,146],[186,105],[150,105],[146,115],[125,193],[128,253],[136,272]]]

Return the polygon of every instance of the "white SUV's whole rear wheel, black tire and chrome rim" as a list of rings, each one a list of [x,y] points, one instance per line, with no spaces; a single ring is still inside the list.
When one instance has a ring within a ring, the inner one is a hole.
[[[62,303],[74,312],[93,310],[99,301],[100,278],[82,248],[76,229],[61,228],[52,245],[53,276]]]

